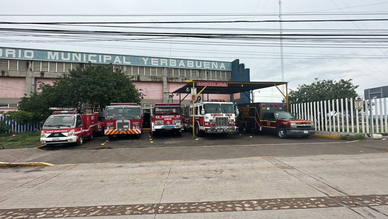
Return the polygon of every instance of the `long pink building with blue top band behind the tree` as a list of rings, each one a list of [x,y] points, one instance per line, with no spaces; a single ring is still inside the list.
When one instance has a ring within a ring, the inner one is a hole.
[[[52,83],[51,79],[61,77],[70,69],[97,64],[112,64],[114,69],[132,76],[133,84],[143,90],[142,105],[145,106],[178,102],[179,96],[171,92],[186,84],[185,80],[249,81],[249,68],[238,59],[206,61],[0,47],[0,109],[17,107],[24,94],[38,92],[39,82]],[[240,93],[205,95],[204,100],[207,98],[249,102],[249,98]],[[182,104],[190,100],[187,96]]]

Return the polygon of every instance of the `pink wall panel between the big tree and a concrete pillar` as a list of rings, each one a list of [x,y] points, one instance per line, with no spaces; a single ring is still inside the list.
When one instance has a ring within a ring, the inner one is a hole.
[[[132,81],[137,89],[142,89],[144,95],[143,102],[154,103],[154,100],[163,100],[163,83],[162,82],[145,82]],[[149,101],[151,100],[151,101]]]

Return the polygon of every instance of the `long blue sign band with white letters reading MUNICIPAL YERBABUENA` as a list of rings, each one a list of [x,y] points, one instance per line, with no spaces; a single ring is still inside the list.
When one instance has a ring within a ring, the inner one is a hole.
[[[40,49],[19,49],[0,47],[0,58],[83,62],[115,65],[140,65],[151,67],[199,68],[214,70],[232,70],[232,63],[223,61],[186,60],[175,58],[158,58],[148,56],[127,56],[116,54],[78,53],[65,51],[50,51]]]

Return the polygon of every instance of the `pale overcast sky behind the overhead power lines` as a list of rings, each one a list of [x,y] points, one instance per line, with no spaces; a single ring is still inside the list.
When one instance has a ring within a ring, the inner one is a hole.
[[[17,2],[17,4],[16,4]],[[385,12],[388,4],[383,0],[294,0],[282,2],[282,13],[296,12]],[[376,4],[363,7],[354,7],[367,4]],[[142,1],[0,1],[0,14],[193,14],[193,13],[278,13],[278,0],[142,0]],[[342,8],[342,9],[338,9]],[[329,10],[330,9],[330,10]],[[327,10],[327,11],[323,11]],[[312,16],[283,16],[283,20],[301,19],[383,19],[386,15],[312,15]],[[232,20],[277,20],[278,16],[142,16],[142,17],[69,17],[69,16],[1,16],[1,21],[232,21]],[[386,29],[388,21],[355,21],[355,22],[303,22],[282,23],[286,29],[340,29],[340,30],[372,30]],[[42,25],[35,25],[42,26]],[[208,24],[136,24],[123,26],[147,26],[147,27],[183,27],[183,28],[257,28],[279,29],[279,23],[208,23]],[[2,27],[14,28],[42,28],[33,25],[2,25]],[[102,28],[84,26],[50,26],[53,28],[68,28],[74,30],[114,30],[128,32],[179,32],[179,33],[279,33],[258,31],[230,31],[230,30],[166,30],[145,28]],[[290,33],[290,32],[283,32]],[[305,33],[305,32],[291,32]],[[139,38],[139,37],[132,37]],[[386,37],[385,37],[386,38]],[[64,51],[80,51],[91,53],[130,54],[141,56],[165,56],[182,57],[186,59],[233,61],[240,59],[250,68],[251,81],[281,81],[280,47],[277,41],[268,41],[258,44],[259,46],[233,46],[233,45],[192,45],[176,44],[174,42],[244,42],[222,39],[164,39],[167,41],[156,42],[69,42],[42,43],[42,42],[2,42],[4,39],[19,40],[44,40],[44,37],[9,37],[0,36],[2,47],[24,47],[31,49],[50,49]],[[128,37],[130,39],[130,37]],[[52,38],[50,39],[52,40]],[[145,40],[142,40],[145,41]],[[170,43],[171,41],[171,43]],[[245,41],[252,42],[252,41]],[[260,41],[263,42],[263,41]],[[254,43],[257,43],[255,41]],[[293,42],[284,42],[293,43]],[[311,44],[308,42],[307,44]],[[378,43],[382,44],[382,43]],[[373,45],[369,43],[369,45]],[[148,48],[147,48],[148,47]],[[362,45],[360,47],[363,47]],[[376,46],[374,46],[376,47]],[[325,56],[323,54],[376,56],[388,54],[387,47],[382,48],[302,48],[285,45],[284,51],[284,80],[289,82],[289,88],[293,89],[298,84],[311,83],[314,78],[319,79],[353,79],[354,84],[360,86],[357,92],[362,96],[363,89],[376,86],[388,85],[388,59],[338,59],[338,58],[315,58],[309,56]],[[144,50],[147,49],[147,50]],[[179,50],[180,49],[180,50]],[[199,50],[201,53],[196,53]],[[205,53],[204,53],[205,52]],[[210,53],[206,53],[210,52]],[[295,58],[294,53],[306,54],[305,58]],[[316,54],[316,55],[312,55]],[[327,56],[327,55],[326,55]],[[352,56],[353,57],[353,56]],[[354,56],[357,57],[357,56]],[[281,95],[276,89],[265,89],[255,94],[255,101],[278,101]]]

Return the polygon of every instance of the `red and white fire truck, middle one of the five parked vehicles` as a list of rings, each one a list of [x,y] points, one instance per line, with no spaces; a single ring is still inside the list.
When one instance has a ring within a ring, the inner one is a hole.
[[[151,135],[160,131],[180,135],[184,130],[180,110],[180,103],[155,103],[155,107],[151,109]]]

